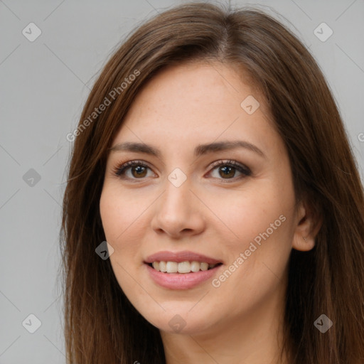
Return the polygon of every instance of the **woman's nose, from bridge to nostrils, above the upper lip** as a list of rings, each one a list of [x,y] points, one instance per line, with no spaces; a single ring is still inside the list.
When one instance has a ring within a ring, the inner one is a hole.
[[[154,204],[151,228],[157,234],[181,238],[197,235],[205,229],[203,206],[186,181],[176,187],[166,181],[166,189]]]

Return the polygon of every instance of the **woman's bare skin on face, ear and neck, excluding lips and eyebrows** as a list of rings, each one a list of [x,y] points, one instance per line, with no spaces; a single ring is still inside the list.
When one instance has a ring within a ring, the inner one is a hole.
[[[269,109],[242,81],[220,63],[161,71],[139,92],[112,143],[142,141],[161,155],[112,151],[107,159],[100,213],[112,268],[128,299],[160,329],[168,364],[287,363],[278,356],[287,264],[292,248],[314,247],[312,221],[304,203],[296,204]],[[260,103],[253,114],[240,107],[248,95]],[[245,148],[193,155],[198,144],[235,140],[264,156]],[[140,167],[139,174],[134,167],[124,178],[115,175],[133,160],[148,165],[142,176]],[[251,174],[232,168],[226,177],[226,165],[211,168],[215,161],[237,161]],[[175,168],[187,178],[179,187],[168,180]],[[218,278],[282,215],[286,220],[218,288],[208,279],[193,289],[166,289],[143,263],[161,250],[191,250],[224,263]],[[182,331],[168,325],[175,315],[186,323]]]

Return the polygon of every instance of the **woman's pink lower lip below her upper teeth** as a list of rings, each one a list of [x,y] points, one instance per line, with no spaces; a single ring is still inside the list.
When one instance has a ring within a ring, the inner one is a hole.
[[[213,269],[208,269],[205,271],[191,272],[191,273],[164,273],[150,267],[146,264],[146,269],[148,270],[151,278],[159,284],[159,286],[168,289],[190,289],[198,286],[211,277],[222,267],[222,264],[218,265]]]

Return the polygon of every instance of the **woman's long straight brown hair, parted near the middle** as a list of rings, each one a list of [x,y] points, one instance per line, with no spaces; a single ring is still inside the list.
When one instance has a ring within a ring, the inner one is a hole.
[[[322,221],[314,249],[291,252],[290,363],[364,363],[363,186],[331,90],[309,51],[272,16],[204,3],[139,26],[103,68],[72,134],[61,230],[69,363],[165,363],[158,328],[124,295],[109,259],[95,253],[105,240],[99,203],[108,149],[134,97],[158,70],[193,60],[250,76],[287,147],[296,199]],[[333,322],[326,333],[314,326],[321,314]]]

